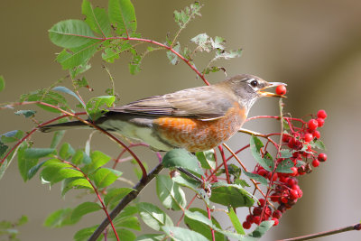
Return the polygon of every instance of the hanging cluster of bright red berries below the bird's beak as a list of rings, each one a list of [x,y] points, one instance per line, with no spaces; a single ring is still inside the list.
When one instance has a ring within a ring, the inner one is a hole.
[[[319,110],[317,118],[312,118],[308,122],[284,117],[289,125],[289,132],[282,134],[282,150],[289,149],[292,156],[278,158],[275,161],[274,171],[267,171],[259,164],[255,166],[253,172],[266,178],[273,190],[267,192],[265,199],[259,199],[258,206],[251,210],[243,223],[245,229],[250,228],[252,224],[259,225],[262,221],[270,219],[274,221],[274,226],[278,225],[282,213],[291,209],[302,197],[302,190],[298,185],[297,177],[310,173],[311,165],[318,167],[319,162],[327,160],[325,153],[317,153],[314,150],[315,147],[318,147],[316,143],[319,142],[320,138],[318,128],[324,125],[326,117],[327,114],[324,110]],[[292,121],[301,123],[301,127],[293,125]],[[292,173],[275,172],[277,166],[284,161],[292,165]]]

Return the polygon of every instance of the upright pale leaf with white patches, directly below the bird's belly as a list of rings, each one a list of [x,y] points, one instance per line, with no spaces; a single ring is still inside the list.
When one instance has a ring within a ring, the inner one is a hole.
[[[169,176],[157,175],[156,187],[158,197],[166,209],[180,210],[186,207],[187,201],[183,190]]]

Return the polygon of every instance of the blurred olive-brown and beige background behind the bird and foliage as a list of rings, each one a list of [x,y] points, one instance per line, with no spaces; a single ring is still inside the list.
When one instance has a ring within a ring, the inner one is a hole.
[[[172,34],[177,28],[172,12],[191,3],[162,0],[133,2],[138,32],[145,38],[160,42],[167,32]],[[106,6],[106,1],[92,3]],[[306,235],[359,221],[361,2],[228,0],[206,1],[203,4],[202,17],[191,22],[180,37],[183,45],[189,44],[190,38],[201,32],[222,36],[230,49],[244,49],[240,59],[217,63],[226,67],[228,75],[251,73],[269,81],[288,83],[285,110],[291,112],[292,116],[315,114],[320,108],[326,109],[329,114],[321,130],[329,160],[321,163],[310,175],[301,177],[303,198],[263,240]],[[82,19],[80,5],[80,0],[1,1],[0,75],[5,77],[6,88],[0,93],[0,102],[16,101],[21,94],[48,87],[66,75],[54,61],[55,53],[61,50],[51,44],[47,30],[61,20]],[[104,95],[104,90],[110,87],[102,65],[106,65],[116,79],[116,91],[122,104],[141,97],[202,85],[185,64],[171,66],[164,51],[147,56],[143,60],[143,70],[136,76],[131,76],[127,70],[129,57],[125,54],[123,59],[116,60],[112,65],[102,62],[99,56],[92,60],[93,68],[86,76],[95,90],[88,92],[83,89],[82,95],[85,98]],[[210,58],[210,55],[200,54],[199,60],[196,59],[199,69]],[[212,83],[221,79],[224,79],[223,73],[208,77]],[[69,86],[69,79],[63,85]],[[14,129],[26,131],[34,126],[23,116],[14,116],[13,112],[2,111],[0,133]],[[276,114],[277,101],[262,99],[252,109],[250,116]],[[51,116],[54,115],[37,115],[41,120]],[[245,128],[274,132],[278,126],[267,120],[247,123]],[[87,131],[71,132],[66,134],[65,140],[81,148],[88,134]],[[33,135],[38,147],[46,146],[50,138],[46,134]],[[93,149],[113,156],[119,153],[116,144],[109,144],[106,137],[96,134],[94,139]],[[229,144],[236,148],[248,140],[249,136],[237,134]],[[140,153],[143,160],[150,160],[148,163],[151,167],[155,164],[152,152],[143,148],[135,151]],[[247,156],[246,153],[241,155]],[[246,164],[251,167],[254,163]],[[149,187],[147,199],[141,200],[157,199],[153,195],[153,188]],[[44,218],[50,212],[62,207],[75,207],[77,194],[74,192],[60,199],[60,185],[50,190],[48,186],[41,185],[37,178],[23,183],[16,162],[12,163],[0,181],[0,190],[0,220],[15,220],[21,215],[30,218],[30,223],[20,228],[22,240],[71,240],[77,229],[97,224],[104,218],[89,215],[76,227],[42,227]],[[240,212],[240,215],[244,214]],[[228,221],[224,222],[227,226]],[[359,240],[360,237],[359,232],[353,231],[319,240]]]

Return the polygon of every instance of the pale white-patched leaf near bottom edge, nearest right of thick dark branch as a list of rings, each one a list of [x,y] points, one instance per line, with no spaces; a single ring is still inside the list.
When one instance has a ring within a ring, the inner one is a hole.
[[[171,218],[152,203],[140,202],[136,207],[143,222],[154,230],[161,231],[162,227],[173,226]]]

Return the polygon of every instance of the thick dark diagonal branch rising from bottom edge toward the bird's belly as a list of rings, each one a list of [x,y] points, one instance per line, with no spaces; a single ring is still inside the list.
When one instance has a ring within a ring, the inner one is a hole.
[[[109,214],[109,217],[113,220],[116,218],[116,216],[128,205],[132,200],[134,200],[136,197],[138,197],[139,193],[145,186],[153,180],[153,178],[161,172],[163,169],[162,163],[159,163],[153,171],[149,172],[149,174],[139,181],[135,186],[134,190],[132,190],[129,194],[125,196],[124,199],[122,199],[115,209],[112,210],[112,212]],[[88,241],[96,241],[97,237],[100,236],[103,231],[106,229],[106,227],[109,225],[109,219],[106,218],[103,220],[103,222],[97,227],[97,230],[94,231],[94,233],[89,237]]]

